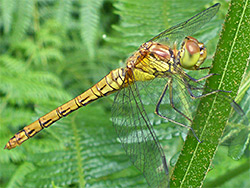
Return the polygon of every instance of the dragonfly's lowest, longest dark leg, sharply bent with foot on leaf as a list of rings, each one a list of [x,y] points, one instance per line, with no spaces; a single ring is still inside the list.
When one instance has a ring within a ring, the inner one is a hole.
[[[170,79],[170,80],[171,80],[171,79]],[[172,122],[172,123],[175,123],[175,124],[177,124],[177,125],[180,125],[180,126],[182,126],[182,127],[185,127],[185,128],[187,128],[187,129],[190,129],[190,130],[192,131],[194,137],[196,138],[196,140],[197,140],[199,143],[202,143],[202,141],[200,141],[200,139],[196,136],[196,134],[195,134],[195,132],[194,132],[194,130],[193,130],[192,127],[190,127],[190,126],[188,126],[188,125],[185,125],[185,124],[182,124],[182,123],[180,123],[180,122],[177,122],[177,121],[175,121],[175,120],[173,120],[173,119],[171,119],[171,118],[165,117],[165,116],[163,116],[162,114],[160,114],[160,112],[159,112],[159,107],[160,107],[160,104],[161,104],[161,102],[162,102],[162,99],[163,99],[163,97],[164,97],[164,95],[165,95],[165,93],[166,93],[166,91],[167,91],[167,89],[168,89],[168,85],[169,85],[170,82],[172,82],[172,81],[169,81],[169,82],[165,85],[165,87],[164,87],[164,89],[163,89],[163,91],[162,91],[162,94],[161,94],[161,96],[160,96],[160,98],[159,98],[159,100],[158,100],[158,102],[157,102],[157,104],[156,104],[155,113],[156,113],[159,117],[161,117],[161,118],[163,118],[163,119],[166,119],[166,120],[168,120],[168,121],[170,121],[170,122]]]

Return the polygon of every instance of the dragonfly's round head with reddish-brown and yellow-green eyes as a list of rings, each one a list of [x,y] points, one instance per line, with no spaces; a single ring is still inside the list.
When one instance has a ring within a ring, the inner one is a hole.
[[[197,70],[206,57],[207,50],[203,43],[190,36],[184,39],[179,54],[180,64],[183,68]]]

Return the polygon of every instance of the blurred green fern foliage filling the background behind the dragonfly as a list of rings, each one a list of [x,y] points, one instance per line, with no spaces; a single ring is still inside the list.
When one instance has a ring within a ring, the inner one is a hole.
[[[208,48],[207,64],[228,8],[226,0],[216,2],[222,4],[216,18],[196,33]],[[216,2],[0,0],[1,148],[25,125],[124,66],[140,44]],[[147,187],[117,140],[113,97],[81,108],[21,147],[0,149],[0,187]],[[173,162],[185,130],[152,122]],[[221,146],[207,183],[250,187],[247,147],[234,161]]]

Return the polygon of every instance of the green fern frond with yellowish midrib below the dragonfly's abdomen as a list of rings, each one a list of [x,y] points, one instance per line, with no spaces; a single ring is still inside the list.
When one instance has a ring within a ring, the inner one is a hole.
[[[92,119],[93,113],[99,119]],[[89,107],[62,120],[66,126],[56,126],[53,132],[61,131],[65,147],[31,154],[29,161],[38,165],[38,169],[28,175],[24,186],[46,187],[52,182],[59,187],[122,186],[124,174],[129,173],[133,176],[126,178],[127,185],[141,182],[145,186],[142,175],[128,168],[130,162],[116,140],[115,130],[106,118],[108,115],[101,107]]]

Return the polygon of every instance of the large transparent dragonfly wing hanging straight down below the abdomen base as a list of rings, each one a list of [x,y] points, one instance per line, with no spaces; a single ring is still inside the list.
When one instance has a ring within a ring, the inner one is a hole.
[[[112,121],[131,162],[151,187],[166,187],[168,172],[164,152],[142,104],[136,84],[119,91]]]

